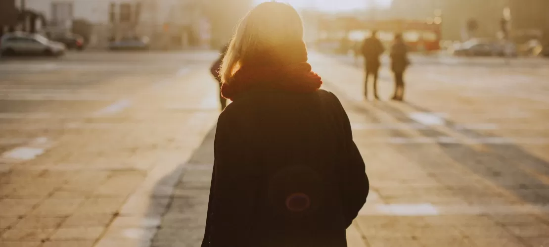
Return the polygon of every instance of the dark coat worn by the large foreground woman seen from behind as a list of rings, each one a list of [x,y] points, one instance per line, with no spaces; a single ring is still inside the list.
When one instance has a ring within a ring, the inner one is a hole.
[[[368,188],[334,94],[245,92],[217,121],[202,246],[346,246]]]

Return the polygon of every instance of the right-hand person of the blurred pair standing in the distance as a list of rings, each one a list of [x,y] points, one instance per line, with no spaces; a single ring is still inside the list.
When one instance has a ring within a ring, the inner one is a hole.
[[[402,39],[402,35],[397,33],[391,47],[391,69],[395,74],[395,94],[393,100],[402,101],[404,99],[404,71],[409,64],[408,48]]]

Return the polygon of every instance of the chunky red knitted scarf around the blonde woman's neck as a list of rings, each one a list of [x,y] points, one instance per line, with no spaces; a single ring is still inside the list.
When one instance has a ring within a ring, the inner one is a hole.
[[[315,92],[322,80],[307,63],[305,43],[298,42],[261,52],[255,58],[243,61],[243,66],[223,83],[223,97],[234,100],[251,89],[277,89],[290,92]]]

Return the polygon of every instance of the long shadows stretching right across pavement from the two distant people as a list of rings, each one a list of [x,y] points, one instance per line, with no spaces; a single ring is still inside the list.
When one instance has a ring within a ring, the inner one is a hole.
[[[345,94],[338,88],[334,88],[338,94]],[[374,114],[366,108],[363,102],[353,102],[351,100],[341,99],[344,105],[350,106],[353,110],[364,113],[368,121],[383,123]],[[395,117],[399,122],[404,123],[421,123],[411,119],[407,113],[400,110],[392,102],[376,102],[372,103],[374,108],[377,108],[385,113]],[[419,106],[405,103],[413,109],[429,113],[430,111]],[[447,121],[447,126],[453,128],[470,138],[497,138],[496,136],[488,136],[481,134],[473,130],[464,130],[463,128],[456,127],[456,123]],[[438,138],[445,137],[447,134],[442,133],[430,126],[424,126],[424,128],[418,128],[418,132],[423,137]],[[393,137],[409,137],[405,132],[400,130],[389,130],[389,133]],[[438,149],[433,149],[433,145],[438,146]],[[459,142],[434,142],[429,144],[424,143],[407,143],[406,145],[395,144],[392,147],[396,153],[401,154],[406,159],[414,162],[422,169],[428,172],[429,176],[433,177],[441,184],[455,185],[454,189],[460,189],[459,186],[469,186],[467,191],[462,191],[457,197],[461,197],[468,203],[475,204],[492,204],[497,205],[494,198],[486,197],[488,192],[483,189],[470,189],[479,185],[478,180],[475,181],[473,177],[460,177],[460,174],[453,172],[448,164],[441,163],[440,159],[433,150],[441,150],[448,158],[465,167],[467,170],[473,172],[478,177],[485,179],[485,181],[491,182],[498,187],[500,192],[506,195],[513,195],[519,202],[528,203],[533,205],[547,205],[549,202],[549,185],[546,184],[544,177],[549,175],[549,162],[537,158],[536,156],[528,153],[521,147],[515,144],[485,144],[488,149],[478,150],[474,149],[471,145],[463,144]],[[444,158],[444,157],[441,157]],[[466,188],[461,188],[466,189]],[[493,192],[492,192],[493,193]],[[506,197],[501,195],[501,197]],[[502,204],[505,204],[505,200]]]

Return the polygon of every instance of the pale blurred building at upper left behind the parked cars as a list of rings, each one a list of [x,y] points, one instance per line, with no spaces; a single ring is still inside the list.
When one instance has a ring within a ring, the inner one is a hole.
[[[5,1],[5,0],[3,0]],[[18,0],[21,1],[21,0]],[[152,48],[200,46],[209,41],[200,0],[26,0],[26,8],[44,13],[46,31],[71,31],[75,21],[93,26],[89,46],[111,40],[148,36]]]

